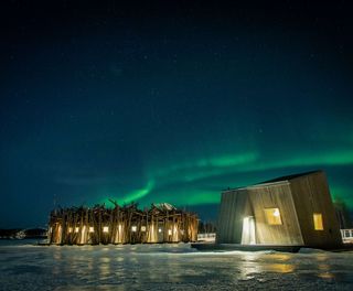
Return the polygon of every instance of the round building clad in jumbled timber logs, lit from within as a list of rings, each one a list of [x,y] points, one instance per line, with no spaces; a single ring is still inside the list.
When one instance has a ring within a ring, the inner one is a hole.
[[[58,208],[51,212],[49,242],[57,245],[196,241],[199,218],[170,204],[143,211],[136,203]]]

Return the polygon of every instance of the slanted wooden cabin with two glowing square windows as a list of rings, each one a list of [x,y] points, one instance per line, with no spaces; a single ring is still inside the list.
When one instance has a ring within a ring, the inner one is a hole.
[[[216,242],[339,247],[342,238],[324,172],[224,191]]]

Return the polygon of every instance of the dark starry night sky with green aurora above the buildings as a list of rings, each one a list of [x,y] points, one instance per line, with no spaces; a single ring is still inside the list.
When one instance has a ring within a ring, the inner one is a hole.
[[[0,227],[317,169],[353,208],[349,1],[87,2],[1,3]]]

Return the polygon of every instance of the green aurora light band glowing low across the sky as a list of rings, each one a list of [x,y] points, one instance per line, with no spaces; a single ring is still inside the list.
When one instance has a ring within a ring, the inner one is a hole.
[[[291,157],[281,161],[266,161],[259,152],[243,154],[227,154],[191,160],[186,163],[174,163],[158,168],[149,172],[149,180],[145,187],[132,190],[124,195],[111,195],[118,202],[149,203],[169,202],[178,206],[213,204],[220,202],[220,193],[228,185],[242,186],[255,181],[254,173],[266,173],[284,169],[325,169],[328,166],[352,165],[353,151],[330,151]],[[237,176],[242,176],[238,179]],[[244,177],[245,176],[245,177]],[[264,175],[264,179],[268,177]],[[330,183],[332,196],[341,196],[352,205],[350,188]],[[107,200],[105,200],[107,203]]]

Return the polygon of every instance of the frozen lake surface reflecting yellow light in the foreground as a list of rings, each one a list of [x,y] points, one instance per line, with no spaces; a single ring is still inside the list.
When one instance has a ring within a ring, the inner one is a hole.
[[[353,252],[0,241],[0,290],[353,290]]]

